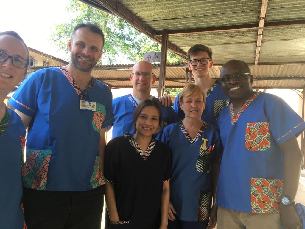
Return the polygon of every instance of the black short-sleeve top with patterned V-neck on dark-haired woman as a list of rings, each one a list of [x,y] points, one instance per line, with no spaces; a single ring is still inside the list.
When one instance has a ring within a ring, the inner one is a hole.
[[[158,228],[163,183],[170,179],[171,151],[152,137],[147,150],[126,133],[105,147],[105,178],[114,184],[121,228]],[[114,226],[114,225],[113,225]]]

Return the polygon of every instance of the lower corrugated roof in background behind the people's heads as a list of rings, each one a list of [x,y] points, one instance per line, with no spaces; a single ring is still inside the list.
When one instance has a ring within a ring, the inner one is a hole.
[[[184,63],[185,64],[185,63]],[[92,75],[98,80],[112,87],[132,87],[129,75],[132,65],[99,65],[92,71]],[[160,64],[154,64],[154,73],[160,74]],[[252,65],[249,66],[255,80],[254,87],[303,87],[305,86],[305,64],[282,65]],[[45,67],[30,67],[29,72],[37,71]],[[214,66],[210,70],[212,78],[219,78],[221,66]],[[186,65],[169,65],[166,70],[166,87],[183,87],[185,85]],[[272,80],[259,80],[262,77]],[[294,77],[294,79],[292,79]],[[278,79],[277,79],[278,78]],[[284,79],[285,78],[285,79]],[[289,79],[290,78],[290,79]],[[295,79],[300,78],[300,79]],[[194,79],[192,78],[192,81]],[[154,86],[157,87],[158,81]]]

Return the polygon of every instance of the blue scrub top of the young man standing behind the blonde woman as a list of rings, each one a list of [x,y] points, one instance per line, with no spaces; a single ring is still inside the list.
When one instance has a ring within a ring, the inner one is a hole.
[[[182,120],[185,118],[184,112],[179,105],[179,95],[177,95],[174,101],[174,110],[177,112],[179,118]],[[229,105],[229,98],[224,94],[221,89],[220,81],[216,80],[206,93],[206,105],[201,115],[201,119],[204,122],[210,123],[218,127],[218,116],[221,110]]]

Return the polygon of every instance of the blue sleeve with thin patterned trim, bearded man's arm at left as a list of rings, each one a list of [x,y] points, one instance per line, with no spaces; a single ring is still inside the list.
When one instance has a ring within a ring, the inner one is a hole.
[[[34,117],[37,107],[37,99],[40,93],[41,80],[34,73],[29,75],[19,86],[13,96],[9,99],[8,104],[23,114]]]

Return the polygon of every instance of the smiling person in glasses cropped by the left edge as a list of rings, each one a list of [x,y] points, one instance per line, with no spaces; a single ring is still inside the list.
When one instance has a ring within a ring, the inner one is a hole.
[[[25,146],[25,129],[20,117],[6,106],[4,100],[25,78],[29,51],[14,31],[0,33],[0,228],[21,229],[24,216],[20,206],[22,197],[21,167]]]

